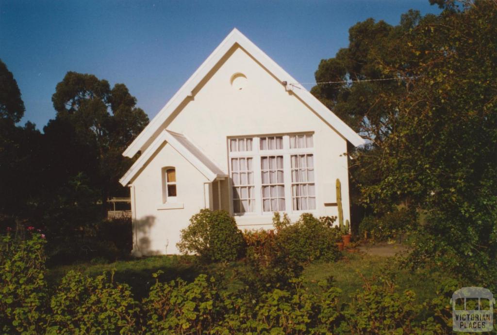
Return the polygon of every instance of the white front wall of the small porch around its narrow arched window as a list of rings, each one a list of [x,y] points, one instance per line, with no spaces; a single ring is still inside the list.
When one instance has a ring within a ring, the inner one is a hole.
[[[176,168],[177,197],[172,203],[163,203],[162,168],[166,166]],[[133,249],[144,255],[179,253],[179,232],[188,226],[193,214],[204,208],[207,182],[172,146],[161,146],[131,184]]]

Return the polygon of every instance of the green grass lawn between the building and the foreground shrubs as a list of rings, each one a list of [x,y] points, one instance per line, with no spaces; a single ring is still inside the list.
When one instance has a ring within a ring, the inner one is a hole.
[[[208,267],[200,267],[192,262],[189,257],[183,256],[153,256],[138,260],[119,261],[111,264],[89,264],[82,263],[71,266],[61,266],[51,268],[48,271],[49,285],[53,286],[73,269],[90,276],[96,276],[103,271],[110,272],[115,269],[114,280],[128,283],[135,295],[141,299],[148,295],[151,285],[155,279],[152,273],[157,270],[164,271],[161,275],[162,281],[173,280],[180,277],[187,281],[192,281],[198,274],[207,273],[210,275],[224,273],[224,280],[227,281],[228,289],[237,289],[241,282],[234,273],[237,268],[242,267],[241,262],[232,264],[213,264]],[[362,288],[363,278],[386,276],[395,278],[399,291],[412,289],[416,293],[418,302],[433,297],[440,273],[430,273],[427,270],[411,272],[406,269],[399,269],[394,257],[372,256],[367,254],[350,254],[343,252],[343,257],[335,263],[317,262],[304,269],[303,277],[306,285],[310,289],[317,288],[318,282],[332,277],[334,285],[342,290],[342,299],[347,299],[356,290]]]

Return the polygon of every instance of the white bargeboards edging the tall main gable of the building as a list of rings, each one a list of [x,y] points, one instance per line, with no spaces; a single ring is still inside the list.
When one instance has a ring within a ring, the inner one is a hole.
[[[257,62],[271,72],[280,82],[287,81],[293,83],[297,89],[293,93],[305,104],[312,108],[318,115],[328,123],[339,134],[346,138],[355,146],[364,144],[364,139],[348,127],[340,118],[334,115],[325,105],[313,96],[304,86],[297,84],[290,74],[277,65],[269,56],[253,44],[238,29],[233,31],[223,42],[209,55],[202,65],[192,74],[192,76],[181,86],[174,96],[166,103],[166,106],[155,116],[145,129],[135,138],[135,140],[124,150],[123,155],[133,157],[151,139],[174,110],[188,97],[191,92],[202,81],[202,79],[212,70],[213,67],[223,58],[223,56],[235,45],[245,49]]]

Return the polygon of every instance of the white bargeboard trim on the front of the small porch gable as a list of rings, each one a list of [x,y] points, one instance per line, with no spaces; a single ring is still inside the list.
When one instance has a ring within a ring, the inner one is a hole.
[[[142,155],[136,160],[136,162],[129,168],[129,170],[124,174],[124,176],[119,180],[121,185],[126,186],[145,166],[145,163],[152,157],[152,155],[159,149],[159,147],[164,143],[169,143],[174,149],[176,149],[187,161],[189,161],[197,170],[200,171],[210,182],[214,181],[216,178],[226,178],[227,174],[222,172],[214,163],[211,162],[212,166],[215,166],[218,171],[212,171],[209,167],[204,164],[197,156],[195,156],[188,148],[186,148],[180,141],[176,139],[175,136],[183,136],[182,134],[172,133],[164,130],[159,134],[159,136],[154,139],[152,144],[142,153]],[[192,144],[193,145],[193,144]]]

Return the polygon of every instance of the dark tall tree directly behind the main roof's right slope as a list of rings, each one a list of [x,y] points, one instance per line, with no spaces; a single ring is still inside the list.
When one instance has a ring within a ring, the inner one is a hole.
[[[349,29],[349,47],[340,49],[334,58],[322,60],[315,73],[317,82],[345,81],[316,85],[311,93],[369,140],[364,148],[348,146],[350,155],[361,156],[361,160],[349,163],[353,232],[357,232],[364,211],[371,211],[371,208],[364,209],[360,205],[361,186],[381,181],[382,176],[377,171],[379,165],[374,164],[377,151],[397,127],[397,97],[409,89],[403,80],[383,79],[411,75],[406,70],[408,62],[404,57],[407,46],[398,41],[419,20],[419,12],[412,10],[404,14],[401,24],[395,27],[372,18],[357,23]],[[415,61],[409,60],[413,64]],[[391,68],[399,69],[399,72],[392,75],[386,70]],[[367,167],[367,173],[360,170],[362,166]],[[389,210],[390,206],[387,207]]]

